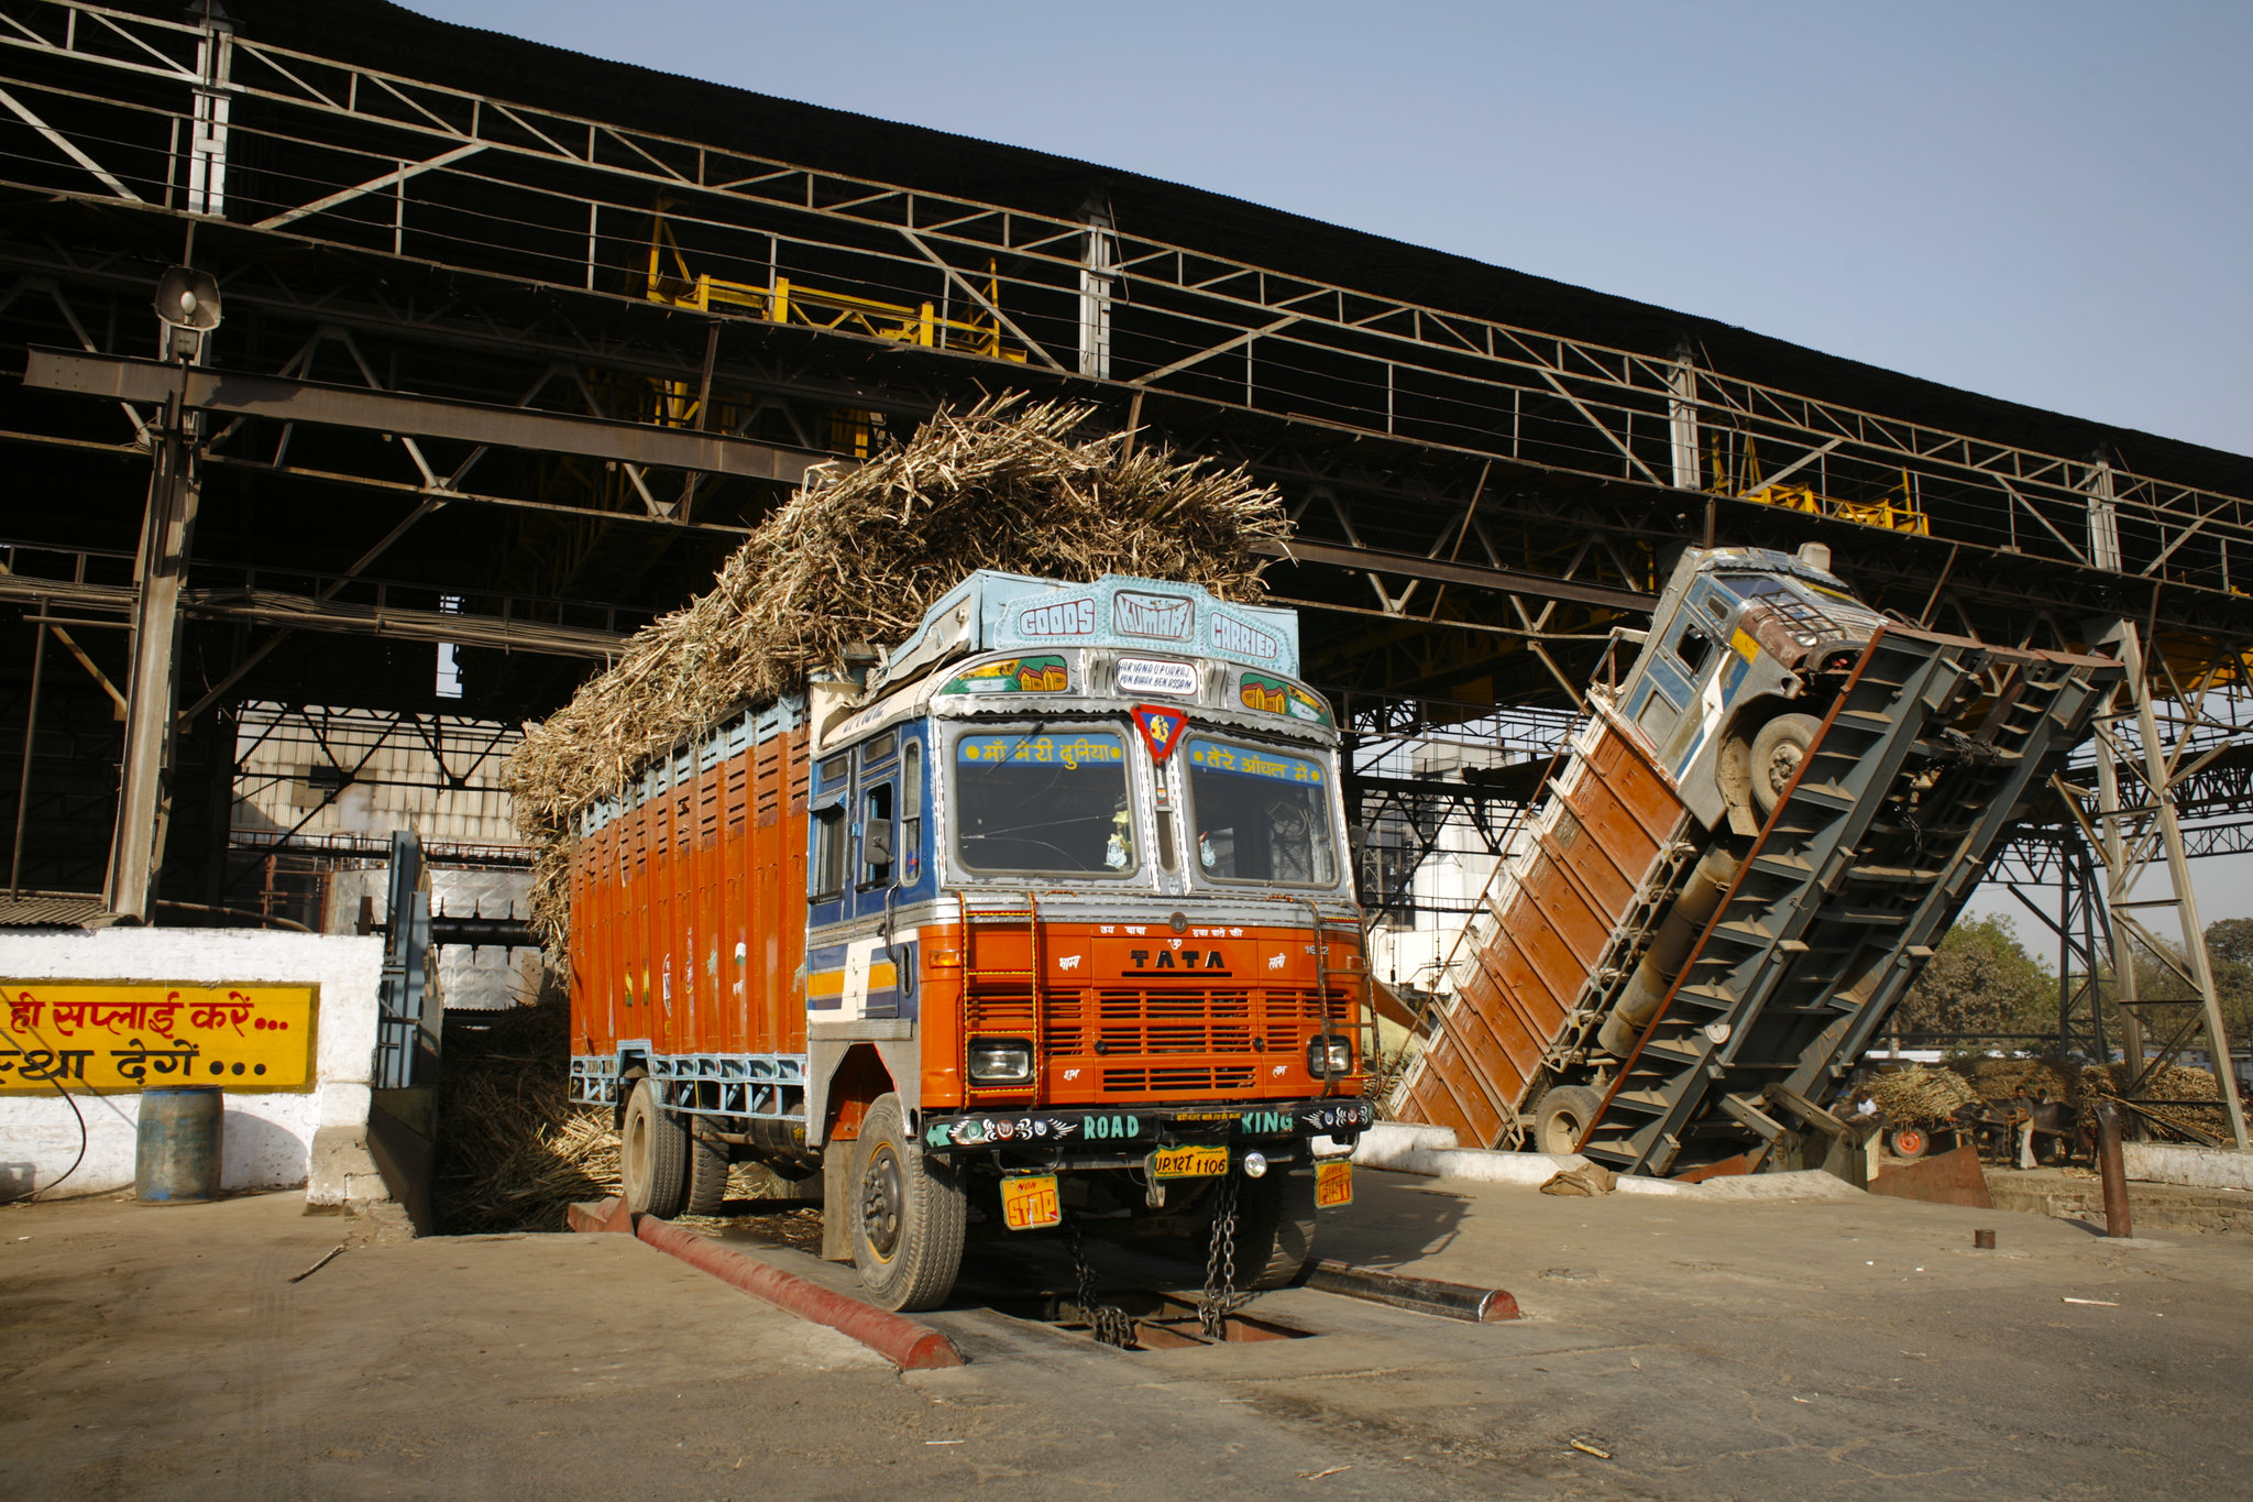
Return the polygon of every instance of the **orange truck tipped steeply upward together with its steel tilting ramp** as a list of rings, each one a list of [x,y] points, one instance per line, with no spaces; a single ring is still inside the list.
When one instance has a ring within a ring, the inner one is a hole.
[[[1807,552],[1690,549],[1613,635],[1399,1119],[1631,1173],[1859,1164],[1825,1099],[2122,669],[1890,619]]]

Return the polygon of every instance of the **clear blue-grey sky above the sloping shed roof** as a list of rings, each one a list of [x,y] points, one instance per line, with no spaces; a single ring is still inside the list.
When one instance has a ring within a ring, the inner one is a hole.
[[[2244,0],[410,5],[2253,453]]]

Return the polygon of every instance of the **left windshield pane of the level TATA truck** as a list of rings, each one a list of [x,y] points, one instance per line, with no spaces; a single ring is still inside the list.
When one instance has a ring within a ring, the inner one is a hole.
[[[1131,874],[1126,739],[1048,727],[958,736],[955,849],[978,874]]]

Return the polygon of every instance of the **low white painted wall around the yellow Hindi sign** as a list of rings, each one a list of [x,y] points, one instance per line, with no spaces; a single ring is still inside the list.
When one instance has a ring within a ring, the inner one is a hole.
[[[313,1137],[358,1142],[367,1130],[376,1058],[376,980],[383,939],[261,932],[246,928],[108,928],[101,932],[0,932],[0,984],[11,980],[146,980],[216,986],[237,982],[318,984],[315,1085],[304,1092],[225,1094],[221,1189],[286,1189],[311,1173]],[[0,1011],[0,1020],[5,1020]],[[79,1155],[86,1162],[56,1184]],[[59,1196],[133,1187],[140,1094],[74,1092],[0,1097],[0,1198]],[[340,1203],[345,1184],[315,1184],[309,1198]],[[369,1196],[381,1198],[381,1196]]]

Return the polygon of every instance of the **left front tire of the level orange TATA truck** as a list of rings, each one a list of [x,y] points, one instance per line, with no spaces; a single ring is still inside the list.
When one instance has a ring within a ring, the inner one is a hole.
[[[840,1207],[829,1207],[840,1209]],[[879,1308],[935,1308],[962,1270],[962,1175],[924,1157],[897,1094],[881,1094],[852,1148],[852,1261]]]

